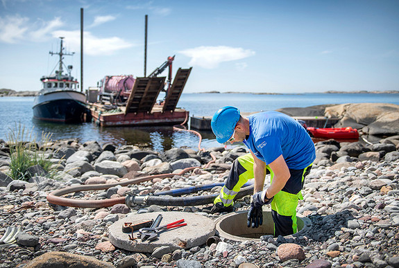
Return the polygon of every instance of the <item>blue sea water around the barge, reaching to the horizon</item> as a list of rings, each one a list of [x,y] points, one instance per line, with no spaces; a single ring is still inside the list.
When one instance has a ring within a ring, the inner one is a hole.
[[[51,133],[51,139],[77,139],[98,141],[100,144],[139,145],[162,152],[170,148],[198,150],[198,136],[189,132],[176,132],[173,127],[97,127],[94,123],[43,123],[33,119],[33,97],[0,98],[0,139],[9,140],[10,132],[22,125],[26,132],[40,138]],[[284,107],[309,107],[325,104],[382,102],[399,105],[399,93],[304,93],[266,95],[251,93],[182,93],[178,107],[190,116],[212,116],[220,107],[231,105],[242,112],[269,111]],[[202,148],[220,146],[212,132],[201,132]]]

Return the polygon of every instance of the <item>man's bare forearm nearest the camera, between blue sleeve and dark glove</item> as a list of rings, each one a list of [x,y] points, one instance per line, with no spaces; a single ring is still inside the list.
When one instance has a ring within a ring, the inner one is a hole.
[[[271,198],[282,188],[284,188],[285,184],[287,183],[289,177],[291,177],[289,173],[289,169],[287,167],[287,163],[285,163],[284,158],[282,157],[282,154],[280,157],[275,159],[275,161],[271,162],[269,164],[269,167],[271,170],[273,170],[274,177],[273,181],[271,181],[271,186],[266,189],[266,198]],[[254,169],[255,172],[255,169]],[[256,181],[256,180],[255,180]],[[256,184],[255,184],[256,186]]]

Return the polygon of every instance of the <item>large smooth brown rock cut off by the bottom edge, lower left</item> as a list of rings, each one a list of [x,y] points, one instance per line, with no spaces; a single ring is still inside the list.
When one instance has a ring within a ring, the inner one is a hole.
[[[24,266],[24,268],[53,267],[114,268],[114,265],[110,262],[102,262],[94,257],[53,251],[34,258]]]

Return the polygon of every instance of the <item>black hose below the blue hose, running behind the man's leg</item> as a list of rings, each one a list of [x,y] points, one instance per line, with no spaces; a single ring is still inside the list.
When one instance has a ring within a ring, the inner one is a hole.
[[[235,199],[251,195],[253,193],[253,185],[241,188]],[[171,196],[155,196],[155,195],[127,195],[125,199],[126,206],[134,208],[135,206],[199,206],[213,203],[219,193],[214,195],[199,195],[194,197],[171,197]]]

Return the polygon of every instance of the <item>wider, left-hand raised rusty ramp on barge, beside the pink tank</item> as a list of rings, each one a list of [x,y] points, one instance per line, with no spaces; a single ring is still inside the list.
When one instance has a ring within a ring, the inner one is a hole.
[[[125,114],[150,112],[164,88],[165,78],[137,78],[126,104]]]

